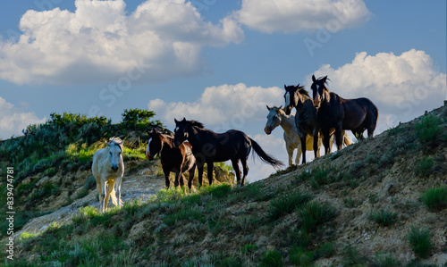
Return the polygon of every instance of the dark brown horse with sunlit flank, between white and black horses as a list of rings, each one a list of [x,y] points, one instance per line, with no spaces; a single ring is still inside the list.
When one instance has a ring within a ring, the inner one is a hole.
[[[180,146],[174,147],[172,136],[158,132],[156,129],[147,132],[149,140],[146,158],[152,161],[156,154],[160,154],[166,188],[169,188],[171,184],[169,180],[171,171],[175,173],[174,187],[178,187],[179,184],[181,187],[184,185],[183,172],[189,171],[188,188],[191,188],[196,172],[196,158],[192,154],[190,143],[183,142]]]

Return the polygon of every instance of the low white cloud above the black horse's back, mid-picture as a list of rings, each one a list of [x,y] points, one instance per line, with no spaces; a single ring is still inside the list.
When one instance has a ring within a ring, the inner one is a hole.
[[[148,109],[161,115],[168,125],[173,119],[196,120],[209,126],[228,124],[224,129],[240,129],[248,121],[265,121],[266,104],[281,104],[283,89],[247,87],[243,83],[205,88],[202,96],[191,103],[155,99]]]

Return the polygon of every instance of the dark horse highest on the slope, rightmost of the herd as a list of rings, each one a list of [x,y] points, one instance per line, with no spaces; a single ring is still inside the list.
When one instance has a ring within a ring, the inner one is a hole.
[[[342,130],[350,129],[354,136],[363,139],[367,129],[368,138],[374,136],[379,111],[375,104],[366,97],[344,99],[326,88],[327,76],[316,79],[312,75],[313,102],[318,108],[318,122],[323,132],[325,154],[331,152],[329,146],[329,129],[335,129],[337,149],[342,148]]]

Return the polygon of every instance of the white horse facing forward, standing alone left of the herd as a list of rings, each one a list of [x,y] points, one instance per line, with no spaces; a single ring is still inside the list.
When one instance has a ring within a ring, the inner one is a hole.
[[[110,138],[105,148],[99,149],[93,155],[91,171],[97,180],[97,192],[99,193],[99,203],[101,212],[105,212],[109,197],[115,206],[122,206],[121,182],[124,174],[124,162],[122,161],[122,139]],[[115,194],[118,191],[118,198]]]

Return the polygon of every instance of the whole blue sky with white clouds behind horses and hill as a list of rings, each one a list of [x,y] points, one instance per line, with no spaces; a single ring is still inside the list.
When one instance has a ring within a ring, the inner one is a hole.
[[[50,113],[124,109],[240,129],[287,163],[264,132],[283,85],[327,75],[379,109],[375,135],[443,105],[446,1],[22,0],[0,4],[0,138]],[[249,181],[274,169],[249,163]]]

